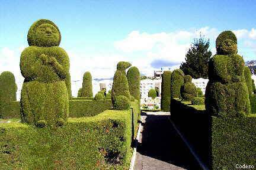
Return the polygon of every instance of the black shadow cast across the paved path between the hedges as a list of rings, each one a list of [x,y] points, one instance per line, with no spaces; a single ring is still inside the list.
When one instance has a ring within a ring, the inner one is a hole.
[[[175,165],[184,169],[201,169],[169,122],[169,115],[148,115],[142,112],[142,119],[145,119],[142,120],[142,139],[137,145],[137,152],[140,155],[158,159],[159,162],[167,162],[172,164],[172,167]]]

